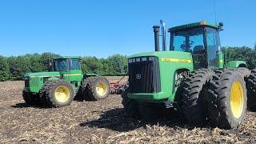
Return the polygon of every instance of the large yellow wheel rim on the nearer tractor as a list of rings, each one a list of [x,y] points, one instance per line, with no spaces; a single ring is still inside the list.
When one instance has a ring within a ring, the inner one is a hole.
[[[243,90],[241,82],[235,81],[231,87],[230,105],[234,118],[240,118],[243,110]]]

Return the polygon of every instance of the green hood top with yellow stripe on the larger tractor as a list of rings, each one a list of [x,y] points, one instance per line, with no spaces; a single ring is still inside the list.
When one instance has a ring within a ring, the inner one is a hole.
[[[158,57],[162,61],[192,61],[192,54],[182,51],[153,51],[131,55],[129,58]]]

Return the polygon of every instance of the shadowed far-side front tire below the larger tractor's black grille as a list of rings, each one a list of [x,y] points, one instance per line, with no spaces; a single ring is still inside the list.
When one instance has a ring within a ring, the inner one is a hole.
[[[134,99],[128,98],[128,92],[129,88],[127,88],[122,93],[122,106],[124,108],[125,114],[129,118],[139,119],[141,118],[141,114],[138,111],[138,102]]]

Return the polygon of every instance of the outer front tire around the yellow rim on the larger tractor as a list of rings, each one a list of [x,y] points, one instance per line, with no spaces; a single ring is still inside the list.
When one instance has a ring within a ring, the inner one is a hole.
[[[210,82],[207,98],[208,117],[210,118],[212,125],[224,129],[231,129],[238,126],[238,124],[230,118],[230,114],[227,111],[226,98],[228,98],[229,95],[227,95],[228,93],[226,93],[226,91],[230,87],[230,79],[235,78],[235,76],[238,77],[239,75],[242,79],[245,77],[245,75],[238,69],[226,69],[223,70],[222,73],[214,74],[213,80]],[[243,86],[246,86],[245,83]],[[242,121],[245,117],[245,114],[243,115]]]

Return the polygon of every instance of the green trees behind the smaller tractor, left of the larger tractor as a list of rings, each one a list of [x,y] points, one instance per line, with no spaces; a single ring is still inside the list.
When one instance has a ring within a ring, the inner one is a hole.
[[[22,80],[26,73],[48,71],[49,59],[58,57],[58,54],[52,53],[0,56],[0,81]],[[81,63],[84,74],[127,74],[127,57],[121,54],[114,54],[108,58],[83,57]]]

